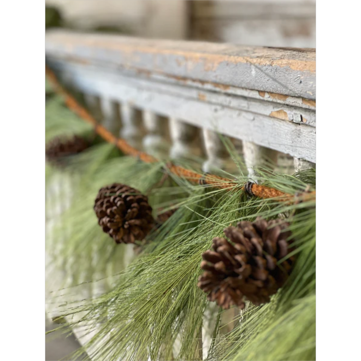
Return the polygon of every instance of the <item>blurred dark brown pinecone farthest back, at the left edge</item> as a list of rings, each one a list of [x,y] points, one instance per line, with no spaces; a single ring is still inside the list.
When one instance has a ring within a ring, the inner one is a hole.
[[[49,162],[61,164],[65,157],[78,154],[90,146],[89,142],[78,135],[58,136],[45,146],[45,156]]]

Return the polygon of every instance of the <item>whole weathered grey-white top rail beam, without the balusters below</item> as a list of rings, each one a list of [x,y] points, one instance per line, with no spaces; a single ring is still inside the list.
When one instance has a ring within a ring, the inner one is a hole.
[[[49,33],[45,45],[48,64],[70,73],[75,86],[85,93],[316,162],[312,50],[65,31]],[[247,66],[255,65],[246,58],[269,74],[247,73]],[[280,88],[274,92],[282,79],[292,80],[293,90],[283,87],[286,94]]]

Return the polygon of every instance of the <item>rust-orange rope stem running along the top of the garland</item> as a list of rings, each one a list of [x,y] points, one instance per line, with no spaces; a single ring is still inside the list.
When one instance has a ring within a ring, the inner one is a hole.
[[[138,157],[140,160],[142,160],[145,163],[155,163],[158,161],[155,157],[145,152],[138,151],[138,149],[128,144],[126,140],[117,138],[105,127],[98,124],[95,118],[93,118],[92,115],[61,86],[55,74],[53,73],[52,70],[49,69],[47,65],[45,65],[45,73],[48,76],[48,79],[51,81],[55,90],[58,93],[60,93],[62,96],[64,96],[65,103],[68,106],[68,108],[72,110],[75,114],[77,114],[80,118],[92,124],[94,126],[95,132],[99,136],[101,136],[106,142],[115,144],[117,148],[119,148],[124,154]],[[238,183],[232,181],[229,178],[222,178],[219,177],[218,175],[214,175],[214,174],[204,175],[174,164],[168,164],[167,167],[171,173],[178,175],[178,177],[186,178],[188,179],[188,181],[192,183],[208,184],[210,186],[213,186],[214,188],[219,188],[219,189],[228,189],[239,185]],[[244,186],[243,186],[243,190],[245,190]],[[280,201],[288,201],[290,203],[296,203],[296,202],[299,203],[301,201],[316,199],[315,191],[299,193],[297,195],[291,195],[279,191],[275,188],[262,186],[260,184],[255,184],[255,183],[252,183],[249,186],[248,193],[251,193],[253,196],[258,198],[263,198],[263,199],[277,198]]]

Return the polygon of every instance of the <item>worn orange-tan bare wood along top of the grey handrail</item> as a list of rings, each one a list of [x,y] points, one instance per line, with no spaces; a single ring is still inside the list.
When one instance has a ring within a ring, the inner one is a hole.
[[[186,63],[204,64],[205,70],[215,70],[223,62],[230,64],[249,63],[258,66],[289,67],[296,71],[309,71],[316,74],[316,51],[297,51],[297,49],[245,47],[231,44],[186,43],[179,42],[177,48],[169,40],[149,40],[118,37],[117,42],[107,36],[89,37],[84,34],[54,33],[47,35],[47,42],[65,44],[67,47],[88,46],[95,50],[111,49],[126,57],[126,62],[134,62],[140,53],[157,56],[181,56]],[[228,54],[227,54],[228,53]],[[236,55],[229,55],[229,53]],[[181,60],[183,61],[183,60]]]

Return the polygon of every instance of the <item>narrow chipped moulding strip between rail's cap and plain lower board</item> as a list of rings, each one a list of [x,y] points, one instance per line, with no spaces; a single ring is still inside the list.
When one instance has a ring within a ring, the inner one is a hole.
[[[51,60],[50,58],[48,59]],[[76,72],[88,68],[85,65],[69,63],[68,60],[61,60],[63,64],[68,64],[71,68],[74,68]],[[89,69],[94,69],[93,66],[89,66]],[[103,73],[102,68],[96,68],[99,71],[101,77],[108,77],[106,73]],[[105,70],[105,69],[104,69]],[[239,109],[246,112],[263,114],[269,116],[273,114],[274,118],[283,120],[285,118],[284,113],[277,113],[279,109],[284,110],[288,115],[288,121],[293,123],[302,123],[308,126],[316,126],[316,113],[314,109],[308,109],[309,106],[303,104],[302,98],[286,97],[282,95],[274,95],[271,97],[268,92],[262,91],[250,91],[246,89],[239,89],[230,86],[223,86],[223,84],[210,83],[205,81],[199,81],[190,78],[177,77],[173,75],[161,75],[154,74],[148,71],[139,71],[137,69],[131,69],[130,73],[122,75],[122,72],[118,69],[114,69],[112,72],[112,78],[114,82],[127,84],[127,86],[145,87],[152,89],[155,94],[159,92],[169,93],[172,92],[181,98],[197,99],[202,102],[210,104],[217,104],[219,106],[230,106],[234,109]],[[153,79],[153,77],[155,77]],[[223,89],[227,89],[223,92]],[[228,89],[229,88],[229,89]],[[221,90],[218,90],[221,89]],[[264,95],[264,97],[262,97]],[[280,100],[285,99],[285,100]]]

